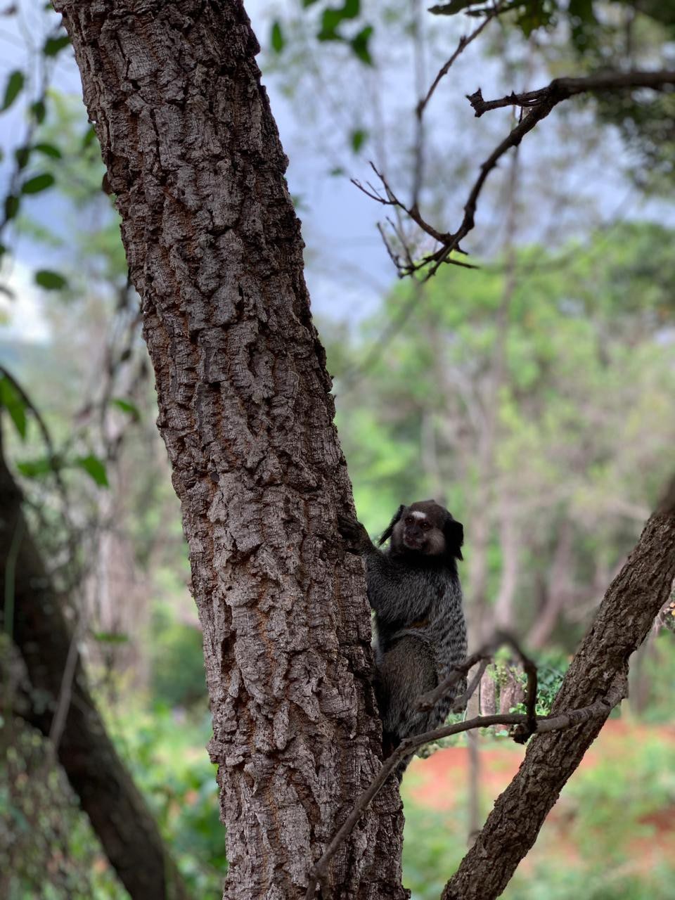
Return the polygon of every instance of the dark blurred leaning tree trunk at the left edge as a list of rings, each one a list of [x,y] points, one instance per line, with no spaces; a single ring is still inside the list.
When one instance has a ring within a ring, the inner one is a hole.
[[[14,613],[8,623],[22,653],[31,694],[23,718],[49,737],[73,640],[40,552],[23,518],[22,497],[0,442],[0,612],[8,560],[15,553]],[[17,543],[18,542],[18,543]],[[105,731],[77,657],[58,761],[133,900],[187,900],[157,824]],[[4,715],[11,710],[4,710]]]

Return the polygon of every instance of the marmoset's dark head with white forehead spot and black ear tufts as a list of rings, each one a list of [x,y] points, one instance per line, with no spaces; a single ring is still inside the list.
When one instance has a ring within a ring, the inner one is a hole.
[[[464,527],[434,500],[401,507],[383,539],[386,536],[392,537],[394,554],[462,559]]]

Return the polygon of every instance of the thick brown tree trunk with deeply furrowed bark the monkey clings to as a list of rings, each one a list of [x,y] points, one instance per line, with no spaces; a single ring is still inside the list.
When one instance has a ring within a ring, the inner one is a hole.
[[[286,159],[234,0],[58,0],[122,217],[190,546],[225,896],[300,897],[378,768],[370,615]],[[332,896],[405,896],[394,785]]]

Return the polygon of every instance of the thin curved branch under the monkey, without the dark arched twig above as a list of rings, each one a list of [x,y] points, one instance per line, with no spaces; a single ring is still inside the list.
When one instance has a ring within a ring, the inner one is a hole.
[[[572,709],[558,716],[545,716],[541,719],[536,719],[534,733],[545,734],[546,732],[561,731],[572,728],[574,725],[579,725],[581,722],[587,722],[596,716],[607,716],[609,710],[616,707],[622,697],[622,689],[612,688],[608,690],[608,694],[604,698],[599,698],[590,704],[589,707]],[[522,713],[508,713],[503,716],[475,716],[475,718],[467,719],[465,722],[458,722],[455,725],[443,725],[440,728],[435,728],[433,731],[425,734],[415,734],[401,741],[392,755],[383,762],[382,769],[377,773],[361,797],[358,798],[354,809],[332,838],[320,860],[312,867],[305,900],[311,900],[314,896],[317,883],[326,878],[329,862],[338,851],[340,844],[351,833],[365,809],[377,796],[401,761],[405,760],[412,752],[425,743],[439,741],[441,738],[449,737],[452,734],[462,734],[475,728],[488,728],[491,725],[521,725],[528,727],[529,717]]]

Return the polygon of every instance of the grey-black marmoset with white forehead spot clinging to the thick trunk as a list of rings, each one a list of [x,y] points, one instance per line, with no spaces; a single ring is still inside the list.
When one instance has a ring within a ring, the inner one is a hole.
[[[383,718],[385,758],[410,734],[436,728],[466,680],[432,710],[418,698],[446,680],[466,658],[466,625],[456,560],[462,559],[464,527],[435,500],[401,506],[380,538],[378,550],[354,522],[341,531],[365,556],[368,600],[375,611],[375,692]],[[401,779],[407,761],[397,774]]]

